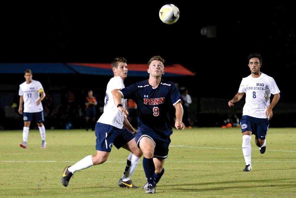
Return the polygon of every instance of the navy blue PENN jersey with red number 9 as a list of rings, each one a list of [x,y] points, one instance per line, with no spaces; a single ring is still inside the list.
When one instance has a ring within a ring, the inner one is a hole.
[[[133,99],[138,107],[138,127],[153,130],[170,136],[169,109],[181,101],[181,95],[170,81],[161,80],[157,88],[149,85],[148,80],[134,83],[120,90],[124,99]]]

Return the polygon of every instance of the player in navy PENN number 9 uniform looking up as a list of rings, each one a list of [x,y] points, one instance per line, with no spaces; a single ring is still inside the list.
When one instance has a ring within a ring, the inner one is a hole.
[[[128,111],[123,107],[122,98],[133,99],[138,107],[136,142],[144,154],[143,167],[147,178],[143,187],[145,193],[155,193],[155,186],[165,171],[163,166],[173,133],[169,108],[176,108],[176,129],[185,128],[180,92],[175,84],[161,79],[165,73],[164,62],[160,56],[153,56],[148,62],[148,80],[113,92],[115,105],[126,116]]]

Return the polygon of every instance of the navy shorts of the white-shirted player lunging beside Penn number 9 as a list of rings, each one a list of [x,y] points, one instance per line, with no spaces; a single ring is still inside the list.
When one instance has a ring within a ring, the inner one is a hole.
[[[112,146],[117,149],[131,141],[135,136],[126,128],[118,129],[109,124],[96,123],[96,150],[111,152]]]

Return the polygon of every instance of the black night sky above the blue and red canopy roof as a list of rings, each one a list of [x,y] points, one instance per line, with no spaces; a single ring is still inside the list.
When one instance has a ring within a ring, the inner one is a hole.
[[[180,10],[171,25],[158,16],[168,3]],[[1,6],[1,62],[109,63],[120,56],[147,63],[160,55],[166,64],[196,72],[174,79],[192,95],[230,99],[250,74],[247,55],[260,53],[261,71],[274,77],[281,100],[290,101],[296,71],[293,8],[262,0],[18,2]],[[206,26],[216,26],[216,38],[200,34]]]

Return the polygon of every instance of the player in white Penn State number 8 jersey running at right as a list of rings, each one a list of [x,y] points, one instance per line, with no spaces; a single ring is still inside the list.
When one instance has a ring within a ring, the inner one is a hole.
[[[279,102],[280,91],[274,79],[260,72],[262,58],[260,54],[250,54],[248,56],[251,75],[242,79],[239,91],[228,102],[229,107],[234,106],[234,102],[242,99],[246,93],[246,103],[242,111],[240,121],[242,127],[242,152],[246,166],[243,171],[251,171],[251,135],[255,135],[255,143],[259,147],[260,153],[266,150],[266,135],[269,120],[272,118],[272,109]],[[271,94],[274,95],[270,102]]]

